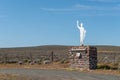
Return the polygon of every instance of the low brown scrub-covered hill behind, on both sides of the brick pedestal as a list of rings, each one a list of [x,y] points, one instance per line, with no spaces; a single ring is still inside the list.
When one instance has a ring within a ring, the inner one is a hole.
[[[96,46],[98,50],[98,62],[116,62],[120,60],[120,46]],[[72,46],[45,45],[35,47],[0,48],[0,61],[40,59],[42,56],[50,57],[51,53],[57,58],[68,58]],[[109,54],[108,54],[109,53]]]

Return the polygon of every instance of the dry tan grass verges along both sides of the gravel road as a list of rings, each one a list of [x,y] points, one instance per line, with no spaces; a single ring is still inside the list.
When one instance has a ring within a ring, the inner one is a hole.
[[[69,64],[60,64],[60,63],[51,63],[51,64],[35,64],[35,65],[30,65],[30,64],[0,64],[0,69],[14,69],[14,68],[26,68],[26,69],[64,69],[64,70],[69,70],[69,71],[81,71],[79,69],[71,69],[69,68]],[[114,74],[114,75],[119,75],[120,76],[120,71],[119,70],[104,70],[104,69],[96,69],[96,70],[83,70],[83,72],[88,72],[88,73],[97,73],[97,74]],[[9,76],[8,78],[14,77],[18,78],[18,75],[0,75],[0,80],[10,80],[10,79],[2,79],[1,76]],[[23,77],[24,78],[24,77]],[[14,80],[14,79],[11,79]],[[19,79],[15,79],[19,80]],[[20,79],[24,80],[24,79]],[[25,79],[27,80],[27,79]]]

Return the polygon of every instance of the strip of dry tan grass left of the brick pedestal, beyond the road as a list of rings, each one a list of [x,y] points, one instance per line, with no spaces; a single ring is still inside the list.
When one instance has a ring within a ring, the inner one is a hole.
[[[60,64],[60,63],[51,63],[51,64],[0,64],[1,69],[8,68],[31,68],[31,69],[65,69],[69,66],[69,64]]]

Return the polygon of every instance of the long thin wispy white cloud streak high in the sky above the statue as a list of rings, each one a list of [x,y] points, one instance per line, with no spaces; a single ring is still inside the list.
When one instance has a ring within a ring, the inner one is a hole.
[[[54,12],[70,12],[70,11],[81,11],[81,10],[120,10],[120,5],[118,6],[91,6],[91,5],[80,5],[76,4],[69,8],[40,8],[43,11],[54,11]]]

